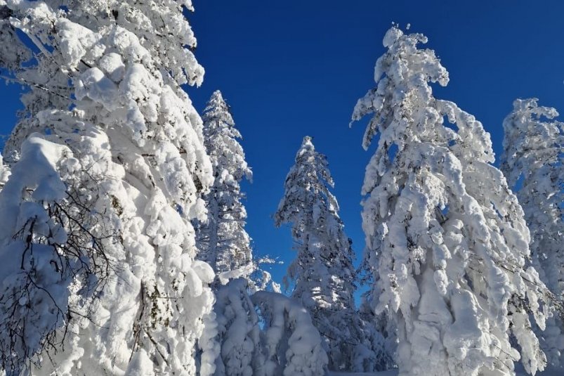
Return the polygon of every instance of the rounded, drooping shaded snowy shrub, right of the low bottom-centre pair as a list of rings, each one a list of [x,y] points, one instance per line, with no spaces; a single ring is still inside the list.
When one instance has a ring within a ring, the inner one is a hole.
[[[251,300],[260,312],[262,356],[256,376],[313,376],[327,371],[322,338],[306,309],[276,292],[258,291]]]

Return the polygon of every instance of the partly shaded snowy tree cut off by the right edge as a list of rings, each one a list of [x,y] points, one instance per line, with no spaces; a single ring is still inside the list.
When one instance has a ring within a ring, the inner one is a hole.
[[[517,99],[504,120],[501,171],[525,212],[531,232],[530,249],[542,281],[560,302],[564,292],[564,123],[553,120],[554,108],[536,98]],[[538,332],[551,365],[564,366],[564,322],[549,318]]]

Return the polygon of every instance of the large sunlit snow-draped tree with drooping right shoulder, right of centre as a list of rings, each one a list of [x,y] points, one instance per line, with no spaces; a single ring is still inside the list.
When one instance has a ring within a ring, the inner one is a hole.
[[[362,187],[376,313],[397,327],[400,375],[514,375],[520,358],[534,374],[546,358],[529,317],[544,326],[546,287],[523,209],[482,124],[433,97],[448,73],[426,41],[388,30],[353,112],[373,114],[364,148],[379,136]]]

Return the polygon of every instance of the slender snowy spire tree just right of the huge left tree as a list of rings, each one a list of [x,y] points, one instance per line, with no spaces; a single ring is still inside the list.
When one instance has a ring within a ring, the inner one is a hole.
[[[251,238],[244,230],[247,211],[240,181],[251,179],[241,144],[240,132],[220,91],[215,91],[202,116],[204,145],[214,168],[214,185],[204,197],[208,216],[197,227],[198,258],[206,261],[217,275],[217,282],[244,277],[251,282],[254,271]]]

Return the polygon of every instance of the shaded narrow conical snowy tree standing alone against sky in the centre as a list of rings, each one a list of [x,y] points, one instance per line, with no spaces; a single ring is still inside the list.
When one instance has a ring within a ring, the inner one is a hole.
[[[274,215],[276,226],[291,223],[296,259],[288,268],[292,297],[310,311],[327,342],[329,369],[350,370],[360,329],[355,318],[355,269],[350,239],[339,218],[339,205],[327,158],[303,138],[284,183],[284,197]]]

